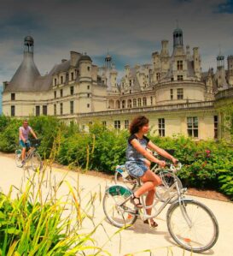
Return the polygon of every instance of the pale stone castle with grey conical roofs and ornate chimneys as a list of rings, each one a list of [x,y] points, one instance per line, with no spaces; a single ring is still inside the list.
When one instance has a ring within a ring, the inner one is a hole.
[[[155,134],[189,135],[197,140],[222,137],[216,102],[233,96],[233,56],[217,57],[217,70],[201,71],[198,47],[183,45],[183,31],[173,31],[173,50],[161,41],[151,63],[125,66],[118,72],[112,57],[97,67],[86,54],[70,51],[40,75],[33,61],[34,40],[24,40],[24,57],[9,82],[3,83],[3,114],[6,116],[58,116],[88,128],[92,122],[114,128],[128,128],[133,116],[146,115]]]

